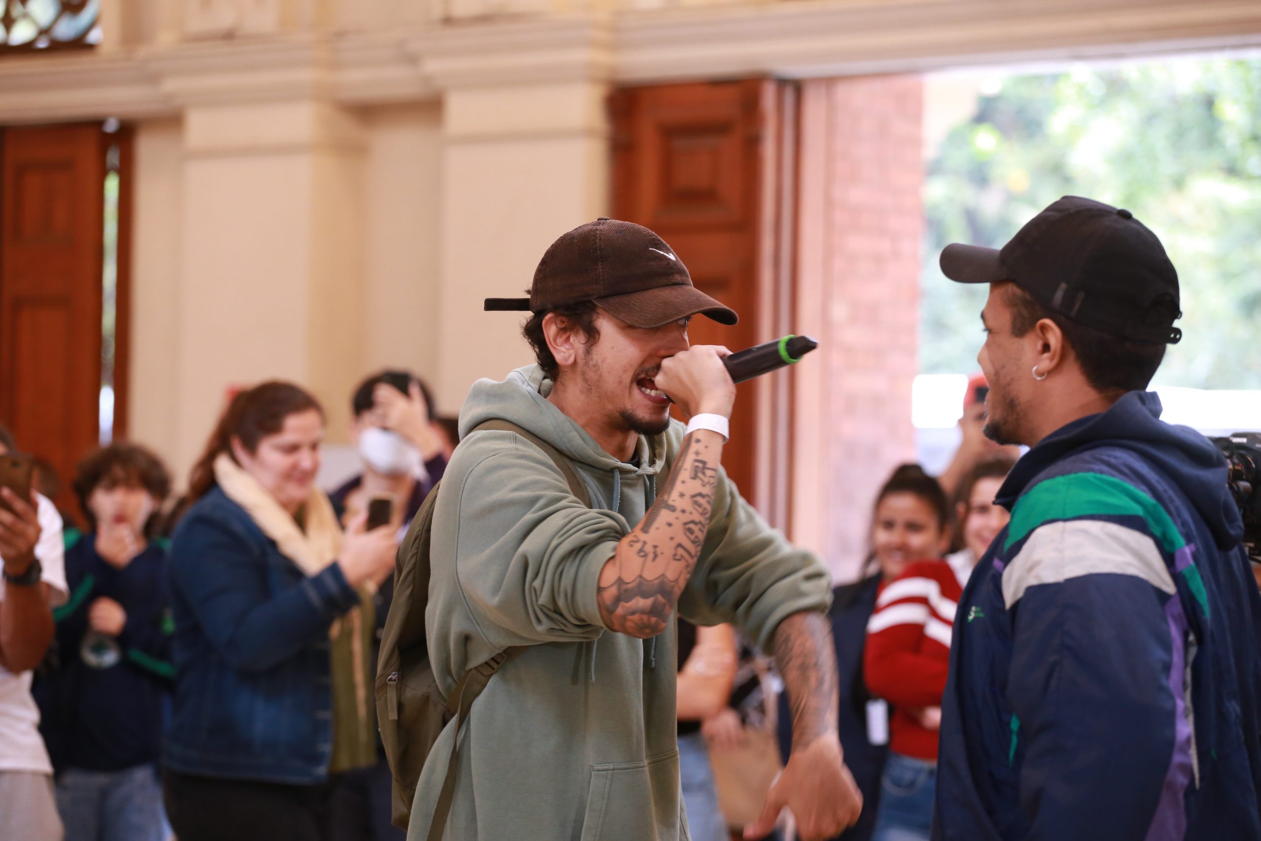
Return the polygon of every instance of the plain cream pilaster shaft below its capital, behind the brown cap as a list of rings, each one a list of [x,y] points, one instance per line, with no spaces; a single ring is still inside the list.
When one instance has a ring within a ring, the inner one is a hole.
[[[451,91],[444,103],[441,324],[438,393],[456,409],[479,377],[533,362],[514,298],[561,233],[607,213],[604,84]]]

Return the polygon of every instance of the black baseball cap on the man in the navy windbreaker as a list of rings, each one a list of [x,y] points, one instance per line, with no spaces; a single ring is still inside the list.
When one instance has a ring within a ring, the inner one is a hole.
[[[1136,342],[1177,344],[1178,271],[1134,214],[1066,195],[1002,248],[953,243],[942,272],[961,284],[1009,280],[1064,318]]]

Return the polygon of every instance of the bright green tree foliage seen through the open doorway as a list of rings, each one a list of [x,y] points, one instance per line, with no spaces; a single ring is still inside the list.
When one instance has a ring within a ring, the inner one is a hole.
[[[1178,267],[1184,338],[1156,380],[1261,388],[1261,61],[1009,76],[928,164],[919,368],[976,368],[985,289],[947,281],[950,242],[1001,246],[1061,195],[1134,212]]]

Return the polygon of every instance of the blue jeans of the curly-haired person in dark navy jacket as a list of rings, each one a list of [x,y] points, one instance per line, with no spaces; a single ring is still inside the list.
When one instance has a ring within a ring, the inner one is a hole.
[[[71,768],[57,780],[66,841],[165,841],[166,812],[153,765],[126,770]]]

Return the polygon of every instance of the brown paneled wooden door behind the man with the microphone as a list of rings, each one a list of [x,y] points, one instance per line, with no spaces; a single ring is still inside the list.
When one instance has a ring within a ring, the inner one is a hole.
[[[613,95],[613,214],[661,235],[696,287],[740,316],[734,327],[694,319],[692,344],[739,351],[778,337],[762,304],[768,286],[786,280],[768,258],[781,235],[774,216],[778,171],[768,150],[778,134],[782,87],[744,79],[632,87]],[[750,499],[758,487],[759,441],[765,440],[758,429],[765,414],[758,403],[765,398],[757,381],[739,386],[731,444],[723,453],[724,467]]]

